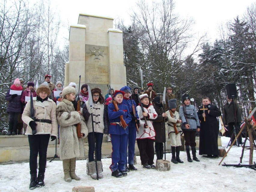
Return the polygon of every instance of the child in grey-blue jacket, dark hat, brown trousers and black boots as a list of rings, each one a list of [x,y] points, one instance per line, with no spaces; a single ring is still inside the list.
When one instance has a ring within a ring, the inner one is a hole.
[[[197,111],[194,105],[190,105],[190,96],[188,94],[182,95],[182,103],[185,106],[185,111],[183,109],[183,105],[180,106],[179,115],[182,121],[182,131],[184,133],[185,139],[185,147],[187,152],[187,161],[192,162],[200,161],[196,157],[196,134],[197,131],[200,131],[200,123],[197,116]],[[185,115],[187,120],[185,118]],[[188,121],[188,122],[187,122]],[[191,147],[193,160],[190,157],[190,149]]]

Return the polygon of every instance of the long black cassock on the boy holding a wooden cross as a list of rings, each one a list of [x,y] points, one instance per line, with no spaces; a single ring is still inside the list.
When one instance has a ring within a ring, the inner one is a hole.
[[[218,151],[218,133],[219,123],[217,117],[221,116],[221,111],[215,105],[205,105],[205,121],[203,118],[203,106],[197,112],[200,122],[200,140],[199,154],[200,155],[219,155]],[[210,113],[208,114],[208,110]]]

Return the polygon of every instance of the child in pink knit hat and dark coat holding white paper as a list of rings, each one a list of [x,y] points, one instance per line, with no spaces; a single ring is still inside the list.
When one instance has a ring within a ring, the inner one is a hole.
[[[11,90],[14,90],[11,91]],[[8,135],[16,135],[18,125],[18,115],[22,113],[22,104],[20,102],[23,87],[20,85],[20,80],[15,79],[13,85],[7,91],[5,99],[8,101],[7,113],[9,113],[9,131]],[[11,93],[10,93],[11,92]]]

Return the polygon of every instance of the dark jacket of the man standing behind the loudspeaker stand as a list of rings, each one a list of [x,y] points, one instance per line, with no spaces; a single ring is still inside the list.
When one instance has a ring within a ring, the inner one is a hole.
[[[234,102],[234,106],[233,106]],[[227,125],[227,123],[235,122],[234,118],[234,108],[235,108],[235,114],[237,117],[237,122],[240,123],[242,121],[241,116],[241,110],[239,108],[239,105],[235,101],[231,101],[230,104],[228,102],[224,105],[224,124]]]

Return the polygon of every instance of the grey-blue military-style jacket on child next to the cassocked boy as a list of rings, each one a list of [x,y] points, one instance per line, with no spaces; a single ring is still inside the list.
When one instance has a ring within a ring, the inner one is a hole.
[[[181,129],[182,130],[197,130],[197,128],[200,128],[200,123],[199,123],[199,119],[197,116],[197,111],[194,105],[185,105],[185,109],[186,109],[186,115],[187,115],[187,120],[184,116],[184,110],[183,110],[183,106],[180,106],[180,110],[179,110],[179,115],[182,121],[182,126]],[[195,120],[194,120],[195,118]],[[187,122],[188,121],[188,122]],[[185,124],[189,124],[190,127],[189,129],[186,129]]]

